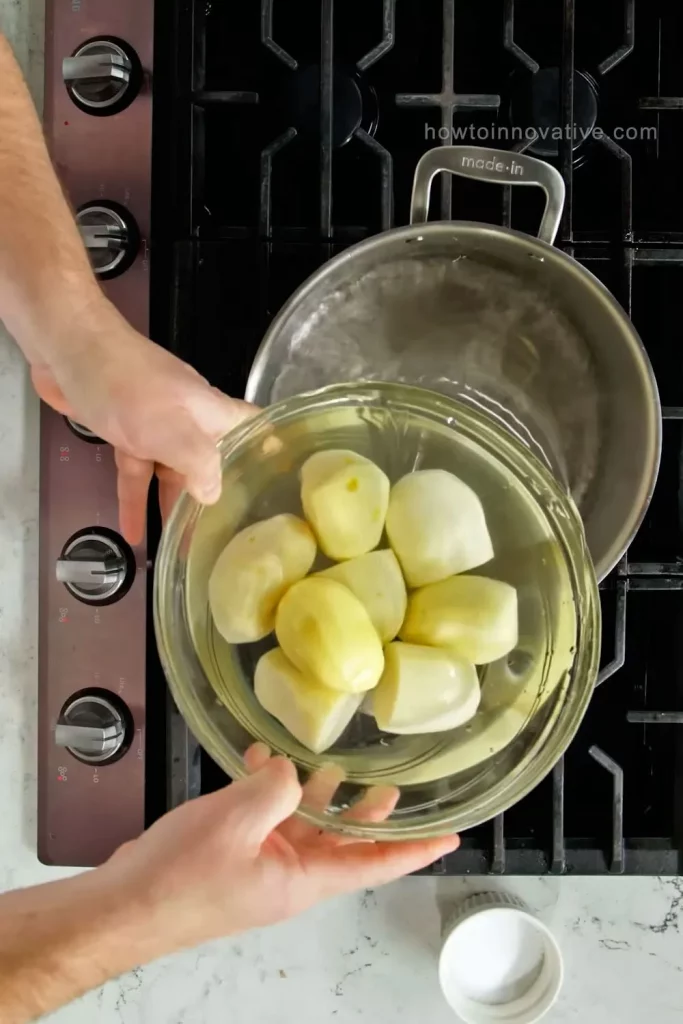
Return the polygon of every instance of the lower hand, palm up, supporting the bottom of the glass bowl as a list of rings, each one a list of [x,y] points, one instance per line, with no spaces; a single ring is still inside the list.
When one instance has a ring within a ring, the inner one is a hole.
[[[245,761],[249,778],[167,814],[99,869],[164,944],[156,955],[383,885],[459,845],[457,836],[369,843],[321,833],[293,815],[302,799],[310,808],[328,805],[342,778],[338,769],[312,776],[302,791],[294,765],[271,758],[262,743]],[[394,787],[376,786],[346,816],[382,821],[397,799]]]

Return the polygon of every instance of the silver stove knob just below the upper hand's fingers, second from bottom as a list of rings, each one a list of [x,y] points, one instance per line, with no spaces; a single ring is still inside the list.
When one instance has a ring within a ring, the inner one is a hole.
[[[135,557],[114,530],[94,526],[74,534],[57,559],[56,577],[86,604],[112,604],[135,578]]]

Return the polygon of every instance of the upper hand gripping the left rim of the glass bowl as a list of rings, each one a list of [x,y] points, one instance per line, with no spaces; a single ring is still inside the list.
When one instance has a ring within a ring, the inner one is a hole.
[[[133,545],[144,534],[155,471],[163,515],[183,487],[212,504],[220,496],[216,441],[255,412],[138,334],[102,295],[31,373],[43,401],[114,445],[120,528]]]

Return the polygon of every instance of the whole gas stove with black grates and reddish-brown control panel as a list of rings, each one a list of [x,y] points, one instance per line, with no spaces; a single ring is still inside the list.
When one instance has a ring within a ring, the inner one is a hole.
[[[432,873],[683,866],[682,31],[674,0],[606,0],[599,25],[586,0],[48,0],[46,130],[102,287],[217,387],[244,392],[285,300],[405,223],[419,158],[458,141],[559,168],[557,244],[647,348],[661,469],[601,587],[589,712],[552,775]],[[431,214],[533,233],[521,191],[443,175]],[[154,503],[133,551],[108,445],[48,409],[41,438],[39,856],[95,864],[226,779],[158,663]]]

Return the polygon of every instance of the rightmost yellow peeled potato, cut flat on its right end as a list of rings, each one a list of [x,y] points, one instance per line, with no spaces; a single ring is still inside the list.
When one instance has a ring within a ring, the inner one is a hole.
[[[400,631],[409,643],[449,647],[474,665],[517,646],[517,591],[485,577],[451,577],[411,595]]]

